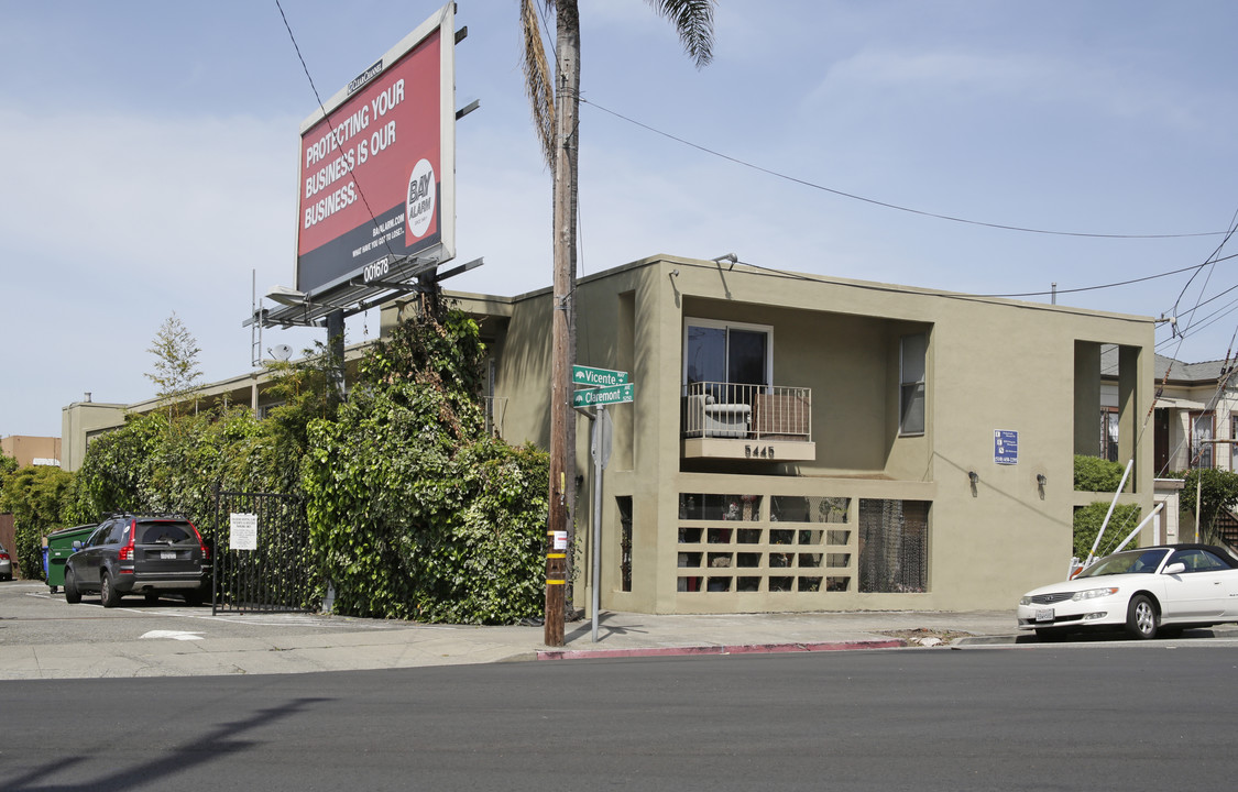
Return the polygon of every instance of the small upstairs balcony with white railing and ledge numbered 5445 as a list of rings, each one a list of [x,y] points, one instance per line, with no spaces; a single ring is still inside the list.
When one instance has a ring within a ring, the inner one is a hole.
[[[683,457],[808,462],[812,390],[780,385],[692,382],[683,397]]]

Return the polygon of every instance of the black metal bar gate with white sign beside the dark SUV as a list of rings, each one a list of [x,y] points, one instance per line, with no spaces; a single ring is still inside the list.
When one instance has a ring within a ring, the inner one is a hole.
[[[317,611],[305,501],[276,493],[215,491],[212,614]]]

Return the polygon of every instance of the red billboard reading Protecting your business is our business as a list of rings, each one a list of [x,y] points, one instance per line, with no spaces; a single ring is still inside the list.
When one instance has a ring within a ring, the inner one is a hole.
[[[297,291],[456,249],[454,4],[301,124]]]

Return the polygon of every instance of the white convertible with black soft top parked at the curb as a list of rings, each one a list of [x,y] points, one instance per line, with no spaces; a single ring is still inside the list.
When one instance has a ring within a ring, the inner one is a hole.
[[[1055,639],[1117,629],[1136,639],[1238,621],[1238,559],[1211,544],[1167,544],[1107,556],[1072,580],[1028,592],[1020,630]]]

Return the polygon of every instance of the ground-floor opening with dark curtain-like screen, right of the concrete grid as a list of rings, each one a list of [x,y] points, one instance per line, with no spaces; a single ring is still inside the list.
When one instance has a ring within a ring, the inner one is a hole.
[[[928,590],[928,501],[859,501],[859,590]]]

